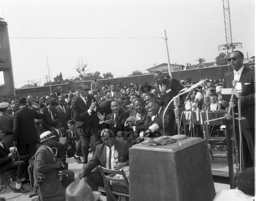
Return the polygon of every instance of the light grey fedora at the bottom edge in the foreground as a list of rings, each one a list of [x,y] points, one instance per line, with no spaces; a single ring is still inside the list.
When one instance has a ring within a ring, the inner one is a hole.
[[[66,189],[66,201],[96,201],[99,196],[84,180],[74,181]]]

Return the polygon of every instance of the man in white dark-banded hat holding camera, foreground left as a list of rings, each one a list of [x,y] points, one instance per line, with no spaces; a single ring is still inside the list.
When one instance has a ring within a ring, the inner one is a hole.
[[[37,183],[37,176],[43,173],[44,181],[39,186],[38,194],[42,201],[62,201],[65,200],[65,190],[74,181],[74,172],[60,169],[61,161],[57,161],[52,148],[55,146],[55,136],[51,131],[46,131],[40,135],[42,146],[35,154],[34,182]],[[59,170],[63,172],[62,182],[58,178]]]

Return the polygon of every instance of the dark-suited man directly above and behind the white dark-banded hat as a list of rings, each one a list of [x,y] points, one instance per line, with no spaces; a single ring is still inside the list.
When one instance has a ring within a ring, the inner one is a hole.
[[[41,109],[43,116],[42,126],[46,130],[53,130],[52,121],[57,119],[57,110],[56,107],[58,103],[55,100],[51,100],[47,107]]]

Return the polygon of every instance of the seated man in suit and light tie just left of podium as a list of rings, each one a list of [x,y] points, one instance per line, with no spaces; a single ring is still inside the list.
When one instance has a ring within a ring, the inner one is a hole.
[[[129,148],[130,145],[126,141],[116,140],[114,133],[110,129],[103,129],[100,133],[103,144],[96,147],[96,151],[92,159],[83,167],[81,172],[76,175],[76,180],[81,180],[86,176],[85,181],[89,184],[93,191],[97,191],[98,187],[104,187],[103,178],[99,170],[92,172],[95,167],[101,165],[111,170],[119,170],[122,167],[129,166]],[[118,163],[114,163],[114,151],[118,151]],[[107,200],[112,200],[106,189]]]

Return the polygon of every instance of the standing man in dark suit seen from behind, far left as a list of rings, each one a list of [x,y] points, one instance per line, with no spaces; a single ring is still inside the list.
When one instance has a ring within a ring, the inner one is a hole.
[[[41,119],[42,113],[26,106],[26,98],[20,98],[20,109],[13,116],[13,142],[20,155],[32,155],[38,142],[35,119]]]

